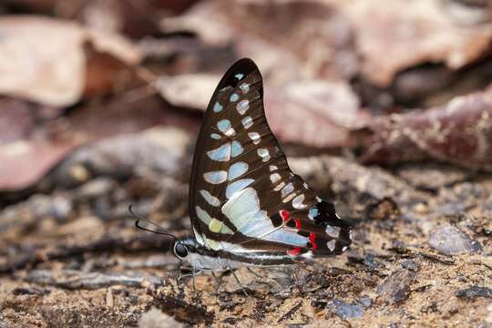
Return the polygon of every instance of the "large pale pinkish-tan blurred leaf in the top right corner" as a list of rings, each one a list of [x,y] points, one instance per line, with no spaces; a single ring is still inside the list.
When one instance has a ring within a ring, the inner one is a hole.
[[[492,40],[487,6],[440,0],[324,2],[349,17],[363,74],[379,87],[419,64],[465,67],[484,56]]]

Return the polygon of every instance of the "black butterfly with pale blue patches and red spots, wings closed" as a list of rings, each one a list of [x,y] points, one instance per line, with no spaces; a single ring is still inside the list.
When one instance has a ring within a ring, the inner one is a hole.
[[[302,122],[300,122],[302,124]],[[261,74],[236,62],[211,97],[190,178],[194,237],[174,254],[197,271],[292,264],[340,254],[350,225],[292,174],[265,118]]]

